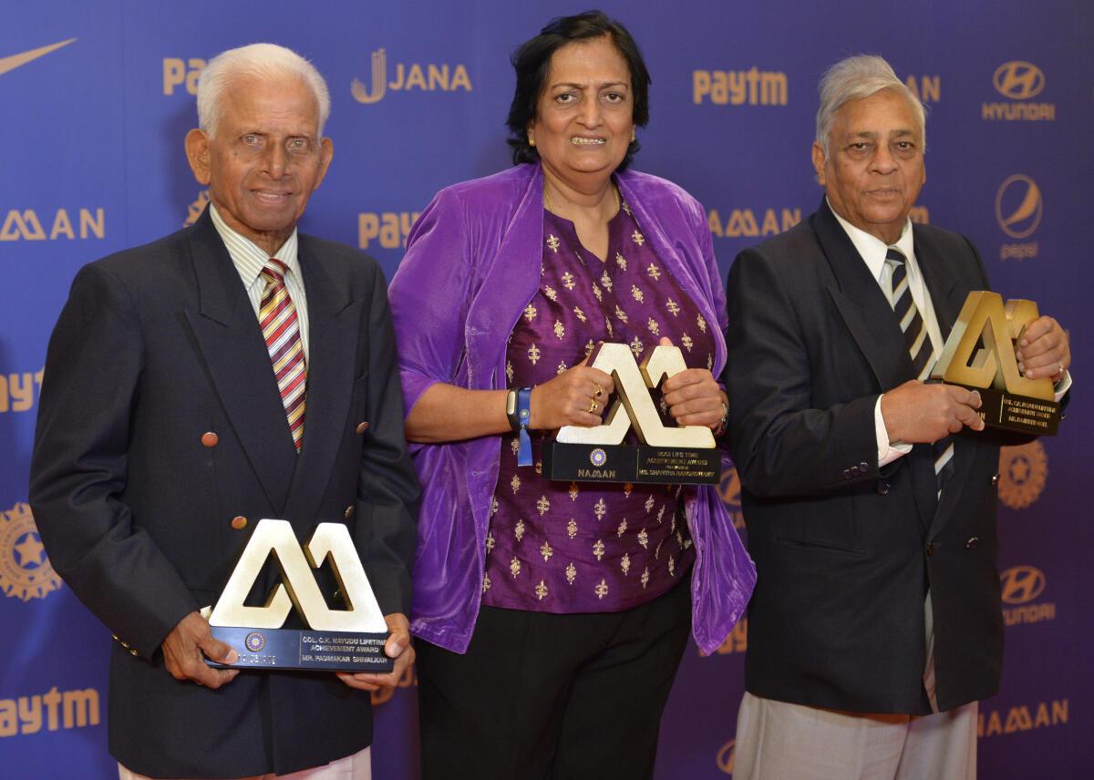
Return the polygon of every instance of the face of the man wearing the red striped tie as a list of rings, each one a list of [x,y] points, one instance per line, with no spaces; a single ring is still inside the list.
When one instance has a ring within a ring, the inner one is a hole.
[[[303,81],[236,78],[224,91],[216,137],[186,136],[194,176],[233,230],[272,255],[304,213],[330,164],[318,105]]]

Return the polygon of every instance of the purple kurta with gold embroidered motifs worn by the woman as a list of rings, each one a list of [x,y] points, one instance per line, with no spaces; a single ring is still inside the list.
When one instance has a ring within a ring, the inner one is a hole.
[[[706,319],[665,271],[626,202],[608,223],[603,259],[581,245],[573,223],[550,211],[544,211],[544,235],[539,289],[509,340],[510,387],[554,379],[597,341],[627,344],[641,362],[665,336],[686,345],[689,368],[713,363]],[[683,511],[695,488],[552,482],[539,474],[550,438],[533,432],[534,468],[517,467],[515,436],[502,439],[482,603],[618,612],[671,589],[695,559]]]

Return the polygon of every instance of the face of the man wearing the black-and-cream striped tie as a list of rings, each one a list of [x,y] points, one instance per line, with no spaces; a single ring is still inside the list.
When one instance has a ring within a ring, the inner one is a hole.
[[[828,154],[813,144],[813,166],[836,213],[895,243],[927,181],[911,105],[893,90],[843,104],[828,133]]]

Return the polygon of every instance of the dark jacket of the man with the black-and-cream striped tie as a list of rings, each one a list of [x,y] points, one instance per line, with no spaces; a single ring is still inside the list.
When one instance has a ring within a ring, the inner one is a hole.
[[[987,275],[965,237],[912,231],[945,338]],[[812,707],[929,712],[929,587],[940,708],[993,695],[1000,438],[956,436],[941,503],[929,445],[878,470],[874,405],[915,376],[893,310],[825,202],[741,253],[728,305],[731,446],[759,575],[747,689]]]

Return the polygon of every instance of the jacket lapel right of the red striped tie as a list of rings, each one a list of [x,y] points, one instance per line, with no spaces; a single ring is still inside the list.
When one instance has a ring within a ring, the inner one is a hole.
[[[300,268],[307,294],[307,407],[304,438],[286,503],[286,519],[310,523],[330,479],[347,423],[363,300],[349,300],[316,257],[307,236],[300,236]],[[283,416],[283,415],[282,415]]]

